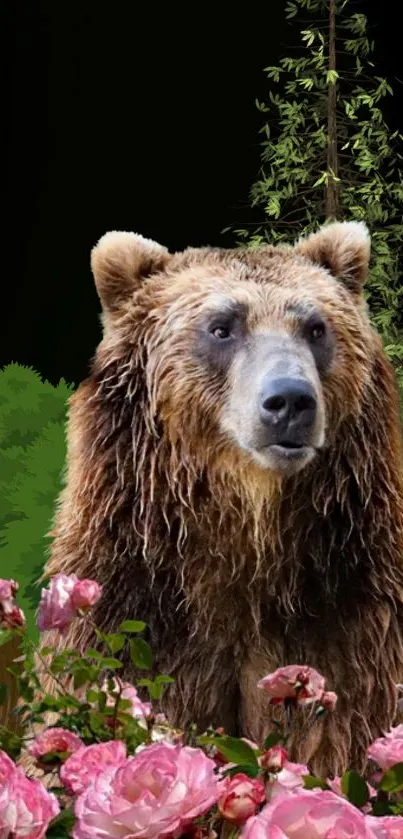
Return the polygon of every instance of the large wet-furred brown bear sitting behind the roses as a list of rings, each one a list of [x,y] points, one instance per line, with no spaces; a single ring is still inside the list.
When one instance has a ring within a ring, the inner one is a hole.
[[[46,569],[103,585],[103,630],[146,621],[175,725],[262,743],[258,680],[317,668],[337,709],[304,742],[301,712],[291,747],[324,773],[362,766],[403,680],[401,432],[362,294],[369,255],[359,222],[173,255],[106,234],[104,334],[71,399]],[[91,627],[67,643],[93,645]]]

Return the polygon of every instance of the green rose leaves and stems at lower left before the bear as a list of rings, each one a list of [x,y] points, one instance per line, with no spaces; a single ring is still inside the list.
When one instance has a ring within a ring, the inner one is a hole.
[[[53,647],[39,647],[39,666],[42,672],[46,671],[54,680],[54,693],[46,695],[41,691],[37,676],[38,659],[35,659],[34,655],[35,645],[29,638],[25,639],[22,672],[15,671],[18,693],[23,702],[14,709],[23,731],[17,737],[6,727],[0,727],[0,748],[18,758],[30,725],[43,723],[43,715],[50,711],[57,715],[57,726],[78,734],[88,745],[117,737],[126,743],[128,752],[133,753],[140,744],[151,742],[147,726],[133,717],[132,702],[122,698],[123,686],[119,681],[115,681],[115,673],[119,675],[116,671],[123,667],[122,661],[109,655],[109,650],[119,646],[124,656],[125,648],[129,649],[133,642],[137,641],[143,645],[144,650],[147,649],[147,655],[151,656],[148,644],[137,635],[133,638],[133,634],[142,632],[146,624],[142,621],[126,623],[131,624],[128,630],[121,630],[116,634],[104,635],[97,630],[100,648],[88,647],[84,654],[74,649],[64,649],[60,652]],[[140,628],[134,629],[135,625]],[[23,636],[22,630],[16,631]],[[69,684],[74,690],[85,686],[84,696],[78,698],[70,692],[67,678],[70,678]],[[173,681],[170,676],[157,675],[154,681],[140,680],[138,684],[144,684],[152,698],[160,699],[165,687]],[[157,695],[154,695],[154,686],[159,688]],[[55,764],[60,762],[63,755],[52,753],[48,758],[49,763]],[[52,768],[50,765],[49,769]]]

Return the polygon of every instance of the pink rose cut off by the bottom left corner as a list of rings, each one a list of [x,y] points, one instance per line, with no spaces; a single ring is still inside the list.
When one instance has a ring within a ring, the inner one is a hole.
[[[4,753],[0,753],[0,772],[6,764]],[[40,781],[27,778],[12,761],[10,764],[0,786],[0,836],[42,839],[60,812],[56,796]]]

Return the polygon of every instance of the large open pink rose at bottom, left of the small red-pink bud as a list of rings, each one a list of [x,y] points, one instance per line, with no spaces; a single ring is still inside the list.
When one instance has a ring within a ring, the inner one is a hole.
[[[74,759],[70,758],[70,760]],[[78,798],[74,839],[158,839],[179,835],[218,799],[214,761],[201,749],[155,744]]]

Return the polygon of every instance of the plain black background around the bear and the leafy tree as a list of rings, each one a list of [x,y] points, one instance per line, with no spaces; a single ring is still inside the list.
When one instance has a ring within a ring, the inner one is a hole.
[[[176,250],[231,246],[221,230],[253,223],[263,123],[255,98],[267,96],[263,68],[295,38],[285,0],[239,11],[101,5],[10,4],[3,28],[11,299],[0,367],[32,365],[54,384],[77,384],[100,339],[89,254],[104,232],[135,230]],[[357,4],[372,25],[376,72],[395,90],[385,115],[401,129],[398,6]]]

